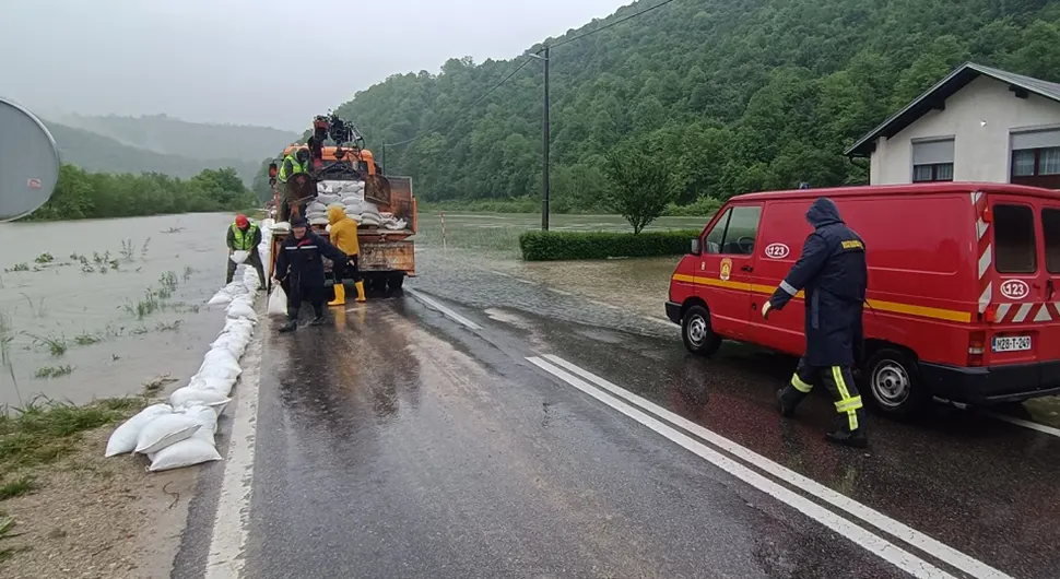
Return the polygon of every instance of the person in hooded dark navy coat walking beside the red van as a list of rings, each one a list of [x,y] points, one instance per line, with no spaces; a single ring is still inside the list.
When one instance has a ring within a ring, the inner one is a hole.
[[[799,261],[762,306],[762,316],[768,319],[769,311],[782,309],[805,290],[806,353],[777,394],[780,414],[791,416],[813,386],[822,383],[835,398],[840,418],[839,427],[826,438],[864,448],[864,411],[851,374],[864,351],[861,314],[869,279],[864,241],[847,227],[828,198],[813,202],[806,221],[814,231],[806,237]]]

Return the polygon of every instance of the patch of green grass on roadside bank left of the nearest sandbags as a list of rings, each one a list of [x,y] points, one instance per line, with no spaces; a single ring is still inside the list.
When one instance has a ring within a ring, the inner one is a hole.
[[[0,414],[0,475],[51,464],[76,449],[87,430],[120,422],[142,409],[145,399],[107,399],[78,406],[36,398]]]

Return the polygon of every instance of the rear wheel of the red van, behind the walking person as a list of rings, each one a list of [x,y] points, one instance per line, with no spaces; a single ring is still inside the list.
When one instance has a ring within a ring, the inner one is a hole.
[[[920,380],[916,358],[900,350],[885,347],[873,352],[862,376],[869,401],[883,414],[917,414],[931,398]]]

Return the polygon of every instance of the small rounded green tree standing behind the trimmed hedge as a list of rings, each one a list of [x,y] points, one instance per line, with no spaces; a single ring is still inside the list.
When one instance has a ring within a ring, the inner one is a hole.
[[[678,190],[667,163],[635,149],[611,151],[603,168],[611,181],[605,193],[608,204],[629,222],[634,235],[662,215]]]

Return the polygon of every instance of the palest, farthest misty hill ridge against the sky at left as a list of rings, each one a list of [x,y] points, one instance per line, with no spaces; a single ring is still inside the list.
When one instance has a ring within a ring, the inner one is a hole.
[[[74,129],[108,137],[120,144],[207,161],[238,158],[260,163],[276,155],[298,133],[269,127],[204,125],[165,115],[144,117],[82,117],[61,115],[52,120]]]

